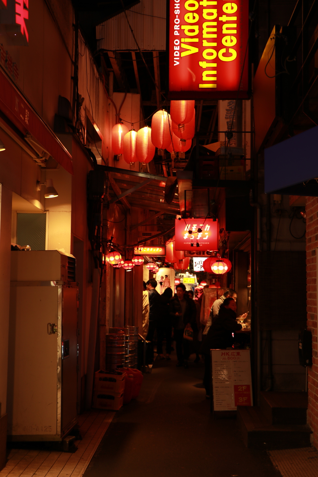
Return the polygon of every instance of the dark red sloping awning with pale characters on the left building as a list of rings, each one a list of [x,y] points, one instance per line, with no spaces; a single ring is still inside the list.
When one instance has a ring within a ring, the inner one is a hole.
[[[24,134],[30,133],[62,167],[73,172],[72,156],[0,68],[0,110]]]

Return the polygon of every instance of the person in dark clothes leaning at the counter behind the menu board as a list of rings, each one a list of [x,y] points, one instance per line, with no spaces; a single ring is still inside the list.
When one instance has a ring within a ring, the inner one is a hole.
[[[226,298],[220,306],[218,315],[215,321],[213,321],[200,349],[200,353],[205,355],[203,384],[207,398],[210,397],[210,350],[231,348],[234,343],[232,333],[241,329],[242,325],[236,321],[236,301],[233,298]]]

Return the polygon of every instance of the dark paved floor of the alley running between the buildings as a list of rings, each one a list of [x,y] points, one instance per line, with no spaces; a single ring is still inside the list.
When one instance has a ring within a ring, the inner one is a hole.
[[[84,477],[280,477],[246,449],[236,420],[213,420],[204,365],[156,361],[137,400],[117,411]]]

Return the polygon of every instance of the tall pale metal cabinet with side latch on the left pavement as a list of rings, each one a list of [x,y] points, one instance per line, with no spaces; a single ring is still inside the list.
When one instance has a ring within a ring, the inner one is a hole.
[[[75,257],[11,252],[8,440],[61,441],[77,423]]]

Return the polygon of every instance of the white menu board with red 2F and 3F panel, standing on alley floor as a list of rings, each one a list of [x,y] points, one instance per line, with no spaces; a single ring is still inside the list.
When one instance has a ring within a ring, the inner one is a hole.
[[[236,411],[236,406],[252,406],[249,350],[211,350],[213,408]]]

